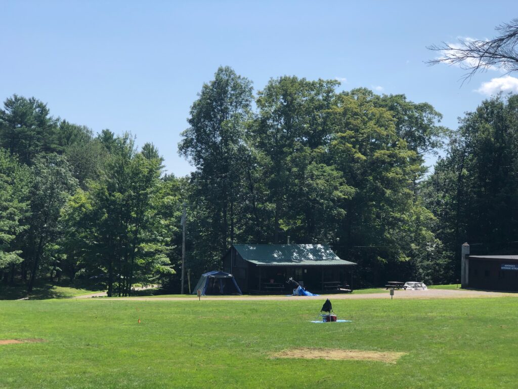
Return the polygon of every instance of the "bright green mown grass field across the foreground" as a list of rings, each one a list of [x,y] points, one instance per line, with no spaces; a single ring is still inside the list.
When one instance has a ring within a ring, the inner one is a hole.
[[[514,388],[518,299],[0,301],[0,388]],[[138,319],[141,323],[138,324]],[[283,359],[405,352],[396,364]]]

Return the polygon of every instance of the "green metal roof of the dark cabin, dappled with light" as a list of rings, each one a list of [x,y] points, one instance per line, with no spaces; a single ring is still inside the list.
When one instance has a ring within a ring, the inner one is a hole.
[[[356,265],[338,258],[321,244],[235,244],[246,261],[260,266],[347,266]]]

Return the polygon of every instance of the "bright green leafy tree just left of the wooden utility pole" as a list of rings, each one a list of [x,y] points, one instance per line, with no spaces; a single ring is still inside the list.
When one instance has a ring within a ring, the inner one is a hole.
[[[63,211],[67,254],[79,259],[85,275],[104,275],[110,296],[173,272],[164,231],[155,228],[162,160],[148,157],[135,151],[130,135],[115,137],[104,173]]]

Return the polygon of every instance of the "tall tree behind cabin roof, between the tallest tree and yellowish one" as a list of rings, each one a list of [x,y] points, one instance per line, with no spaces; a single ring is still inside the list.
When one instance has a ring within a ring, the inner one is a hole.
[[[263,238],[266,241],[278,243],[290,234],[294,241],[332,239],[333,228],[322,222],[340,214],[335,200],[349,191],[342,175],[326,165],[337,85],[333,80],[284,76],[271,79],[258,92],[258,117],[248,137],[266,185],[263,209],[273,230]],[[326,185],[320,186],[323,182]],[[311,190],[316,186],[322,197]]]

